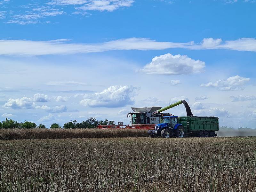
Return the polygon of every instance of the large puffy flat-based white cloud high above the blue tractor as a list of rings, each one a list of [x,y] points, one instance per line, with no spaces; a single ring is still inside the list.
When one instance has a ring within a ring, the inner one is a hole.
[[[171,53],[167,53],[159,57],[154,57],[140,71],[147,74],[180,75],[201,73],[204,67],[205,63],[203,61],[193,60],[187,55],[172,55]]]

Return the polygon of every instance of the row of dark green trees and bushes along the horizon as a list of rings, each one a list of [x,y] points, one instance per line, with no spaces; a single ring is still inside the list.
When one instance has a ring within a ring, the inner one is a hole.
[[[97,127],[98,125],[115,125],[114,121],[108,121],[108,119],[105,119],[104,121],[102,120],[97,120],[95,117],[89,117],[86,121],[83,121],[81,123],[77,123],[76,120],[74,121],[69,121],[64,124],[63,128],[64,129],[86,129],[86,128],[94,128]],[[46,126],[44,124],[39,124],[38,126],[36,123],[31,122],[31,121],[25,121],[24,123],[18,123],[17,121],[14,121],[13,119],[8,119],[6,118],[4,121],[0,121],[0,129],[13,129],[13,128],[18,128],[18,129],[34,129],[34,128],[41,128],[45,129]],[[50,129],[56,129],[56,128],[62,128],[60,124],[58,123],[53,123],[50,126]]]

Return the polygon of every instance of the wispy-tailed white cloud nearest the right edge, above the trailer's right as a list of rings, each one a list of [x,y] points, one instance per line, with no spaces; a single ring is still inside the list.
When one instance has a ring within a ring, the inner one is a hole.
[[[237,91],[244,90],[242,85],[250,81],[250,78],[232,76],[225,80],[218,80],[215,83],[208,82],[206,84],[201,84],[200,87],[217,87],[221,91]]]

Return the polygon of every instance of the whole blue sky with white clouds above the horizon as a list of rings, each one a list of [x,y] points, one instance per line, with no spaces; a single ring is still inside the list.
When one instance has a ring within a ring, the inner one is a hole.
[[[255,0],[0,0],[0,120],[129,124],[131,107],[184,99],[220,126],[256,128],[255,10]]]

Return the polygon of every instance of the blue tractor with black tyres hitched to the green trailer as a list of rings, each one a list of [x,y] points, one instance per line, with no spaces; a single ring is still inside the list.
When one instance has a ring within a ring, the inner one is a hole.
[[[185,129],[182,124],[178,123],[178,116],[164,116],[163,118],[163,123],[156,124],[154,130],[148,131],[149,137],[185,137]]]

